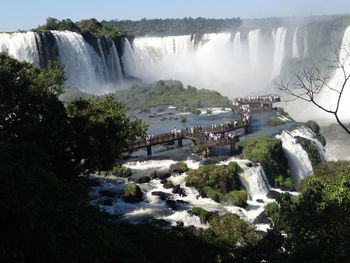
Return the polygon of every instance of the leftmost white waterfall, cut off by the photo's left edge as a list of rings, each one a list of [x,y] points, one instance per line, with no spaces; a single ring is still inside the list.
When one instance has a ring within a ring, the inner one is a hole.
[[[39,66],[39,51],[34,32],[0,33],[0,52],[6,52],[19,61]]]

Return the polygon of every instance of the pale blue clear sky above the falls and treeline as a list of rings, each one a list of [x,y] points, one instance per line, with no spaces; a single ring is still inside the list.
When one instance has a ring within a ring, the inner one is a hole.
[[[28,30],[47,17],[98,20],[254,18],[349,14],[350,0],[2,0],[0,32]]]

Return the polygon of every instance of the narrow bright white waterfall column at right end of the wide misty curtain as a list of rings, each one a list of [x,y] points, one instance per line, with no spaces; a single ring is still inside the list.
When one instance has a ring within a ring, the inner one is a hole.
[[[272,30],[272,37],[274,40],[272,79],[277,77],[281,72],[284,59],[284,44],[286,40],[286,33],[286,27],[279,27]]]

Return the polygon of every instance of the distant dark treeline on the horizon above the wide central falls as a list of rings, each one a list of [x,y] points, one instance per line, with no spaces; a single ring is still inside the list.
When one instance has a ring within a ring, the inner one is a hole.
[[[242,24],[237,18],[208,19],[203,17],[183,19],[146,19],[102,21],[113,28],[118,28],[135,35],[186,35],[231,31]]]

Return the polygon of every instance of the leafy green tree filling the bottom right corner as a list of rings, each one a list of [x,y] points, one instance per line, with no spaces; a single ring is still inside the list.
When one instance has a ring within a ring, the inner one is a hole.
[[[294,262],[346,262],[350,256],[350,174],[308,179],[299,197],[282,195],[273,215]],[[306,262],[306,261],[303,261]],[[307,261],[309,262],[309,261]]]

